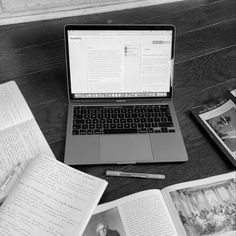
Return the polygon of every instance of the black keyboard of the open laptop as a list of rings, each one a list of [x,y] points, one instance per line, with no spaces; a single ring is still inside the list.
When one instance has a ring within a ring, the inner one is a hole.
[[[73,135],[175,132],[168,105],[74,106]]]

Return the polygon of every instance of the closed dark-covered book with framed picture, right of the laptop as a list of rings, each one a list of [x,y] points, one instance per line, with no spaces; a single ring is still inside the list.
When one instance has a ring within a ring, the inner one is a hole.
[[[227,91],[216,101],[192,108],[192,114],[236,166],[236,97]]]

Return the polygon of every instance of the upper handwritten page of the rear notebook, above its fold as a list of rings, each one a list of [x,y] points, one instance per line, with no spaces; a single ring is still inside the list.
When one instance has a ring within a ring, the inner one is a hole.
[[[0,85],[0,131],[32,119],[33,115],[14,81]]]

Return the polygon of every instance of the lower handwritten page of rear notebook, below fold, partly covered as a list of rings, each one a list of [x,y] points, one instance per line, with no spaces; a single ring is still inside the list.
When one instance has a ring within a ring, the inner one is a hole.
[[[19,162],[40,153],[55,158],[34,119],[0,131],[0,185]]]

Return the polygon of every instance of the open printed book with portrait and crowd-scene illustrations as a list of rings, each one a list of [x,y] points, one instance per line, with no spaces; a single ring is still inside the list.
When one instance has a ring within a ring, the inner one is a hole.
[[[99,205],[83,236],[235,236],[235,198],[236,172],[147,190]]]

